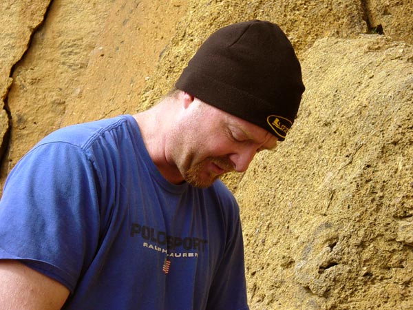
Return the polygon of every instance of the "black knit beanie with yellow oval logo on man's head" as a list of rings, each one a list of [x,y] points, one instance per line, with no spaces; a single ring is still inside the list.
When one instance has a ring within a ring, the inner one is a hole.
[[[293,46],[278,25],[245,21],[211,34],[176,87],[284,141],[304,84]]]

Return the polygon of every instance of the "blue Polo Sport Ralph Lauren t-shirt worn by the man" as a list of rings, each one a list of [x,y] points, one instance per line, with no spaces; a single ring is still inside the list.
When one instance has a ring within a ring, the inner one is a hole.
[[[237,203],[173,185],[132,116],[65,127],[10,172],[0,259],[70,289],[63,309],[248,309]]]

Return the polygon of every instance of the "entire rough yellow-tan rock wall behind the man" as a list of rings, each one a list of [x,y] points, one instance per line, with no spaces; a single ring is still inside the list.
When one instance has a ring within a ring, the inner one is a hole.
[[[278,23],[301,60],[299,117],[225,178],[262,309],[413,309],[412,0],[0,4],[1,182],[57,127],[144,110],[215,29]],[[9,125],[10,124],[10,125]]]

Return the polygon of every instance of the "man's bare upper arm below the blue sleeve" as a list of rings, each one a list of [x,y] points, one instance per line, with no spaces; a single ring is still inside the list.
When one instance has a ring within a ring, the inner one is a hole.
[[[69,290],[15,260],[0,260],[0,304],[5,310],[61,309]]]

